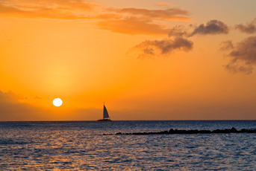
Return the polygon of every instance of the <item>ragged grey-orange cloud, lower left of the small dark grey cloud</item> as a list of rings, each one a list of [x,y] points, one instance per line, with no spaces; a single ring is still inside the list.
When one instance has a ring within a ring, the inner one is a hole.
[[[193,49],[193,42],[176,37],[172,39],[163,40],[146,40],[139,45],[134,46],[128,51],[129,55],[137,57],[160,57],[169,55],[175,50],[191,51]]]

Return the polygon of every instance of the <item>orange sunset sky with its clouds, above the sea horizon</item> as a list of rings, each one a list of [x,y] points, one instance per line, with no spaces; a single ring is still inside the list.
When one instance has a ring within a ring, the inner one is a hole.
[[[0,0],[0,121],[256,120],[255,7]]]

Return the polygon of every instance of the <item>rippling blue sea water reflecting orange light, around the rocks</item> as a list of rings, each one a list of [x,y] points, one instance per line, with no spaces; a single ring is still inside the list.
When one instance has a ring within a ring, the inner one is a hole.
[[[103,135],[231,127],[256,121],[0,122],[0,170],[256,170],[256,134]]]

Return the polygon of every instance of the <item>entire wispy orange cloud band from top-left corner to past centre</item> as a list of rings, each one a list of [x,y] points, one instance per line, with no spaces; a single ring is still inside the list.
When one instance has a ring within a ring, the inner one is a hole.
[[[190,13],[179,8],[149,10],[110,8],[85,0],[5,0],[1,16],[43,19],[87,19],[100,29],[126,34],[167,34],[166,21],[190,22]]]

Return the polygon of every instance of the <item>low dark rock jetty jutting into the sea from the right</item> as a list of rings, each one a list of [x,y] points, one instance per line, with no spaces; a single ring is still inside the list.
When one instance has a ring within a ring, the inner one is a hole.
[[[163,135],[163,134],[228,134],[228,133],[256,133],[256,130],[253,129],[241,129],[237,131],[234,127],[231,129],[216,129],[213,131],[210,130],[184,130],[184,129],[169,129],[169,131],[163,132],[133,132],[133,133],[122,133],[118,132],[116,135]]]

